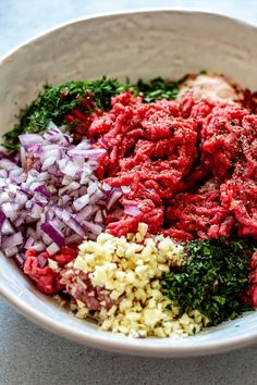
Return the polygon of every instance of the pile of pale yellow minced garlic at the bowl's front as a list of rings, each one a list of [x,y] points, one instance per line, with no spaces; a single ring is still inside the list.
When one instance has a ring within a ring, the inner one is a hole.
[[[171,238],[145,238],[147,225],[137,234],[114,237],[102,233],[96,241],[85,240],[69,271],[87,274],[93,286],[108,290],[115,302],[108,310],[89,311],[76,299],[71,309],[76,316],[94,318],[103,331],[132,337],[186,337],[198,333],[207,319],[197,310],[178,319],[180,308],[161,293],[160,278],[170,266],[180,265],[183,246]],[[169,309],[167,307],[169,306]]]

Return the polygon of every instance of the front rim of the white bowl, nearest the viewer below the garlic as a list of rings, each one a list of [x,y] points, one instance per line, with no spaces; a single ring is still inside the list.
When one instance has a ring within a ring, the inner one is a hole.
[[[229,350],[246,347],[257,344],[257,333],[247,333],[243,336],[236,336],[227,340],[201,341],[197,346],[158,346],[157,344],[144,345],[144,339],[128,338],[126,336],[117,336],[110,332],[98,336],[97,333],[79,332],[79,330],[70,325],[64,325],[60,321],[52,320],[46,313],[28,305],[22,297],[9,293],[8,288],[0,282],[0,294],[8,302],[19,311],[20,314],[36,323],[38,326],[54,333],[61,337],[74,340],[78,344],[107,351],[120,352],[132,356],[145,357],[194,357],[209,356]],[[149,341],[150,338],[147,338]],[[156,339],[155,339],[156,340]]]

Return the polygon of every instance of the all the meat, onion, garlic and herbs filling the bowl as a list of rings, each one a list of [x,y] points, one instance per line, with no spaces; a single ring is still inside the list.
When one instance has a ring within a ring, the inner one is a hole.
[[[3,137],[1,250],[105,331],[240,316],[257,307],[256,112],[216,74],[47,87]]]

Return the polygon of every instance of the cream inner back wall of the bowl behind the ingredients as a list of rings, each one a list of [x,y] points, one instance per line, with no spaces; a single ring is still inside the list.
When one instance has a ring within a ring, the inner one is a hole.
[[[256,30],[218,15],[148,12],[77,22],[35,40],[0,71],[1,129],[42,85],[102,74],[131,79],[211,70],[257,88]],[[17,103],[17,104],[14,104]],[[4,113],[3,113],[4,111]]]

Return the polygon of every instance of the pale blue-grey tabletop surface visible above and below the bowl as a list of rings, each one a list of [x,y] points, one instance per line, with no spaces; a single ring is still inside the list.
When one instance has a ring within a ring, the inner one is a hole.
[[[211,10],[257,24],[255,0],[0,0],[0,55],[35,34],[70,18],[158,5]],[[23,319],[0,298],[0,385],[256,383],[257,346],[194,359],[124,357],[53,336]]]

